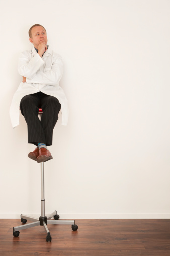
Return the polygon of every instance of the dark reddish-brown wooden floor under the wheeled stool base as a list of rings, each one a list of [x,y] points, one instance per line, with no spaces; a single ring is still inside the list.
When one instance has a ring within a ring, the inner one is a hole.
[[[0,255],[170,255],[169,219],[77,219],[75,224],[77,231],[71,225],[48,225],[52,241],[46,242],[44,227],[14,237],[12,227],[21,225],[20,219],[1,219]]]

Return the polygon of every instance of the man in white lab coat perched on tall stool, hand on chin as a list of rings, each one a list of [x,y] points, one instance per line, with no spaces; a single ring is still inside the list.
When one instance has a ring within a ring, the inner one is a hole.
[[[54,53],[47,45],[47,33],[40,24],[29,30],[29,40],[34,45],[20,55],[18,72],[23,77],[15,92],[10,107],[13,128],[19,125],[19,107],[28,127],[28,143],[36,149],[28,157],[45,162],[53,157],[47,146],[52,145],[53,128],[62,112],[62,125],[67,125],[68,106],[64,91],[59,86],[63,73],[60,55]],[[42,108],[41,121],[38,118]]]

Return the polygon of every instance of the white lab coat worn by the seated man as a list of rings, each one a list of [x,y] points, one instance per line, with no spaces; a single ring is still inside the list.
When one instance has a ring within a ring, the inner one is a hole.
[[[29,94],[39,91],[56,97],[61,104],[62,125],[68,122],[68,104],[59,81],[63,73],[62,58],[54,53],[50,47],[41,58],[33,47],[32,50],[22,52],[19,57],[18,72],[26,77],[26,82],[21,82],[15,92],[10,106],[10,118],[13,128],[19,125],[20,101]]]

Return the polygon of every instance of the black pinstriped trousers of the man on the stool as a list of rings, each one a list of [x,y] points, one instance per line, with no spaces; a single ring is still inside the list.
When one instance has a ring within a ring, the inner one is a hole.
[[[43,111],[41,121],[38,118],[39,108]],[[58,99],[37,92],[24,96],[21,99],[20,109],[28,127],[28,143],[36,146],[38,143],[44,143],[51,146],[53,129],[61,109]]]

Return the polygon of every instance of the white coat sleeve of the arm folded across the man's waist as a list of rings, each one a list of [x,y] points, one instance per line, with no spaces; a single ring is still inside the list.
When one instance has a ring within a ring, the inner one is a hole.
[[[39,83],[48,85],[57,85],[63,74],[63,62],[60,55],[54,57],[51,68],[45,68],[44,71],[38,70],[31,79],[27,78],[27,83]]]

